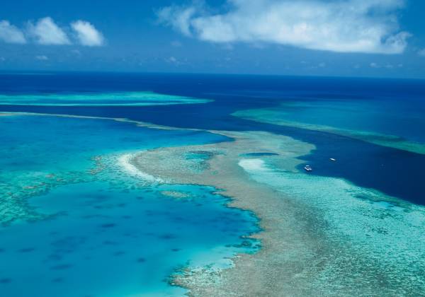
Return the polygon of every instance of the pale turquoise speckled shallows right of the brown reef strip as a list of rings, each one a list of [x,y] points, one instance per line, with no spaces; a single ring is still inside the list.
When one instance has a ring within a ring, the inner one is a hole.
[[[239,165],[257,182],[310,209],[309,217],[300,220],[314,222],[312,230],[326,243],[313,252],[318,264],[312,284],[329,293],[352,288],[378,295],[425,295],[424,206],[339,178],[279,170],[271,162],[244,159]]]

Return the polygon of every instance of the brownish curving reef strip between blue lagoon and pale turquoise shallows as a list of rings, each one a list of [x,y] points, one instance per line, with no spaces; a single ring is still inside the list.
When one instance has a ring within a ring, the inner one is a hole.
[[[240,155],[256,151],[276,153],[270,158],[286,170],[295,170],[302,156],[314,148],[285,136],[265,132],[216,132],[235,141],[210,146],[160,148],[140,153],[131,160],[145,173],[169,182],[213,185],[220,194],[232,197],[231,207],[254,211],[261,219],[263,232],[252,235],[261,240],[261,250],[255,255],[244,254],[234,259],[232,269],[208,267],[183,269],[176,273],[174,284],[186,287],[191,296],[261,296],[313,293],[297,274],[308,267],[319,238],[308,232],[308,222],[300,221],[299,206],[285,194],[251,180],[238,165]],[[265,141],[267,139],[267,141]],[[186,158],[193,152],[203,152],[199,164]],[[297,280],[298,279],[298,280]]]

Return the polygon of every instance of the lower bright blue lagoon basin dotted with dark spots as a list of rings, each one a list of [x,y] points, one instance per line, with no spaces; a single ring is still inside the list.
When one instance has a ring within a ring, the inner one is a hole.
[[[168,284],[174,269],[255,250],[241,238],[256,231],[254,217],[225,207],[227,200],[211,191],[128,191],[91,182],[33,198],[37,211],[57,216],[0,228],[1,295],[181,296],[183,289]]]

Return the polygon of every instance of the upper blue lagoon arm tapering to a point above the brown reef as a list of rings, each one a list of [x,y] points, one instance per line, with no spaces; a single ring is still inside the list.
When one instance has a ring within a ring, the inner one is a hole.
[[[42,115],[0,117],[0,136],[0,223],[39,219],[26,199],[58,185],[96,180],[110,154],[227,139],[208,132]]]

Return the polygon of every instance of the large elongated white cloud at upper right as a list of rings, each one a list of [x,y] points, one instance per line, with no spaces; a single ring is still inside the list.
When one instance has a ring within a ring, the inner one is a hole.
[[[399,54],[404,0],[227,0],[223,13],[203,4],[168,6],[161,23],[208,42],[271,42],[310,50]]]

